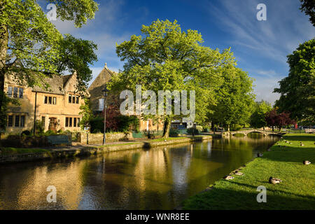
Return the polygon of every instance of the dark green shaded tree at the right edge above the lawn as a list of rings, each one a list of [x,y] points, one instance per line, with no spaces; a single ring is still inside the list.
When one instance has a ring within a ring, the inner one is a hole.
[[[315,117],[315,39],[306,41],[288,55],[290,72],[274,92],[281,94],[275,106],[290,111],[295,120],[314,121]]]

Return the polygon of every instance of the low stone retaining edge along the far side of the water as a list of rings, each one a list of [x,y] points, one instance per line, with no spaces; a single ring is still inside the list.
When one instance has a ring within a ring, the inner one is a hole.
[[[211,136],[186,137],[168,141],[144,141],[130,144],[113,144],[108,146],[71,146],[70,148],[55,148],[45,153],[20,153],[13,155],[0,155],[0,164],[10,162],[27,162],[34,160],[48,160],[54,158],[66,158],[73,156],[88,156],[113,151],[125,151],[136,148],[153,148],[157,146],[167,146],[172,144],[181,144],[193,141],[207,141]]]

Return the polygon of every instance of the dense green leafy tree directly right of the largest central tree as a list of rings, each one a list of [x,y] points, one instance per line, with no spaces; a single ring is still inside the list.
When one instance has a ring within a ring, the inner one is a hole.
[[[244,125],[248,123],[253,109],[253,80],[235,66],[222,71],[223,83],[216,90],[216,105],[211,106],[209,120],[216,124]]]

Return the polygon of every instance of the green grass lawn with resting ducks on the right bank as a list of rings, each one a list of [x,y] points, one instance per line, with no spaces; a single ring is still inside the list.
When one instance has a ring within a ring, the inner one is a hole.
[[[217,181],[183,202],[183,209],[315,209],[315,134],[286,134],[281,140],[241,169],[244,176]],[[272,185],[269,176],[283,182]],[[266,203],[256,200],[258,186],[267,188]]]

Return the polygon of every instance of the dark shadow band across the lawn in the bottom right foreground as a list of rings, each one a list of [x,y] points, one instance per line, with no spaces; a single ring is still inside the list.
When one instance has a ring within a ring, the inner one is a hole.
[[[258,203],[254,192],[213,188],[183,202],[183,209],[205,210],[314,210],[315,197],[296,197],[276,194],[267,189],[267,202]]]

